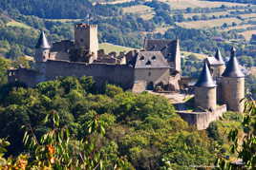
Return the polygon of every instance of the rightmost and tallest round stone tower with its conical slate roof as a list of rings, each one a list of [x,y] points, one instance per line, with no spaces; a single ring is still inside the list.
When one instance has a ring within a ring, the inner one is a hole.
[[[245,98],[245,74],[242,72],[237,58],[235,48],[231,48],[231,56],[224,70],[222,78],[223,102],[232,111],[243,112]]]

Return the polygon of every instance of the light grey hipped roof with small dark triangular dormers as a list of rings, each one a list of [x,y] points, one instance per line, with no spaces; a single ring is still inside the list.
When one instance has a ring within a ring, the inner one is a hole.
[[[169,68],[160,51],[139,51],[135,68]]]

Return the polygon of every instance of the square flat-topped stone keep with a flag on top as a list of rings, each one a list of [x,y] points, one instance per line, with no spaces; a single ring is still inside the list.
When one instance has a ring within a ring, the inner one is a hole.
[[[93,59],[97,59],[98,39],[97,26],[89,24],[75,25],[75,47],[89,51]]]

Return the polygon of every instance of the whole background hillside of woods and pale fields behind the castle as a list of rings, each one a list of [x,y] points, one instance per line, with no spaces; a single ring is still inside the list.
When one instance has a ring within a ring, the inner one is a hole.
[[[5,9],[2,15],[10,20],[0,18],[3,20],[0,53],[9,58],[32,55],[39,29],[46,30],[51,42],[74,39],[75,23],[88,22],[89,19],[91,24],[98,25],[100,43],[141,48],[144,37],[179,37],[183,51],[213,55],[216,47],[219,47],[224,57],[228,57],[230,47],[235,46],[242,65],[256,64],[252,50],[255,45],[250,44],[256,28],[256,9],[253,5],[199,0],[98,2],[91,4],[89,1],[75,0],[70,8],[66,8],[68,1],[51,4],[51,1],[43,0],[38,2],[38,6],[24,0],[17,4],[12,0],[2,2],[0,9]],[[40,10],[50,5],[51,8]],[[90,18],[86,19],[89,12]],[[197,72],[197,69],[193,70]],[[183,74],[188,72],[184,71]]]

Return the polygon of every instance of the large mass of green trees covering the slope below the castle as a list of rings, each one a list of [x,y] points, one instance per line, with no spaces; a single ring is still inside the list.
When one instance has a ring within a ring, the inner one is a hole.
[[[90,77],[60,78],[33,89],[2,86],[0,138],[9,137],[7,154],[29,154],[24,159],[28,167],[54,169],[77,167],[77,162],[84,167],[102,164],[104,169],[213,163],[211,141],[192,132],[167,99],[114,85],[99,94],[95,86]],[[49,148],[54,148],[54,157]]]

